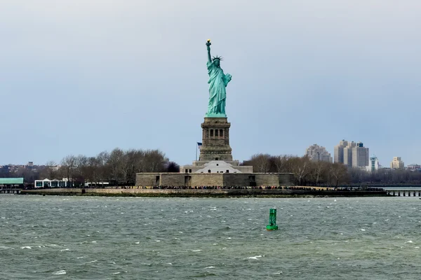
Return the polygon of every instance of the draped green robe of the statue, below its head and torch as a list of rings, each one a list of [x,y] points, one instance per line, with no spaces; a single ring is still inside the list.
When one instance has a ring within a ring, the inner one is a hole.
[[[208,66],[209,74],[208,115],[225,114],[225,99],[227,99],[225,87],[231,79],[213,62],[208,61],[206,66]]]

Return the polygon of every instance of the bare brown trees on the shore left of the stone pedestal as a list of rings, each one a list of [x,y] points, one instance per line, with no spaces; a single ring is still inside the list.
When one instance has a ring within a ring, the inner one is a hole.
[[[38,179],[67,179],[74,186],[83,183],[108,181],[114,186],[134,186],[140,172],[180,172],[180,167],[159,150],[128,150],[115,148],[96,156],[67,155],[58,165],[47,162],[43,166],[0,169],[0,177],[25,177],[25,183]]]

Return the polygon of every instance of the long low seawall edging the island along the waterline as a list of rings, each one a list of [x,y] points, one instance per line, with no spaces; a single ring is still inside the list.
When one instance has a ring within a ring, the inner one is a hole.
[[[49,188],[22,190],[21,195],[83,195],[126,197],[382,197],[383,190],[265,190],[265,189],[138,189],[138,188]]]

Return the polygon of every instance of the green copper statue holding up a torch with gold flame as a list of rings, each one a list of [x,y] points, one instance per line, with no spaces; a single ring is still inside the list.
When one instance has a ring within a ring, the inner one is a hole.
[[[210,57],[210,40],[206,43],[208,48],[208,74],[209,74],[209,104],[206,118],[227,118],[225,114],[225,99],[227,99],[227,87],[232,76],[220,68],[222,57]]]

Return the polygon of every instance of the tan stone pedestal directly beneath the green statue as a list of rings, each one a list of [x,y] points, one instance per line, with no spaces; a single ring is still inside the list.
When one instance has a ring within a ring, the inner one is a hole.
[[[229,127],[227,118],[205,118],[201,124],[202,146],[199,161],[232,161],[232,148],[229,146]]]

